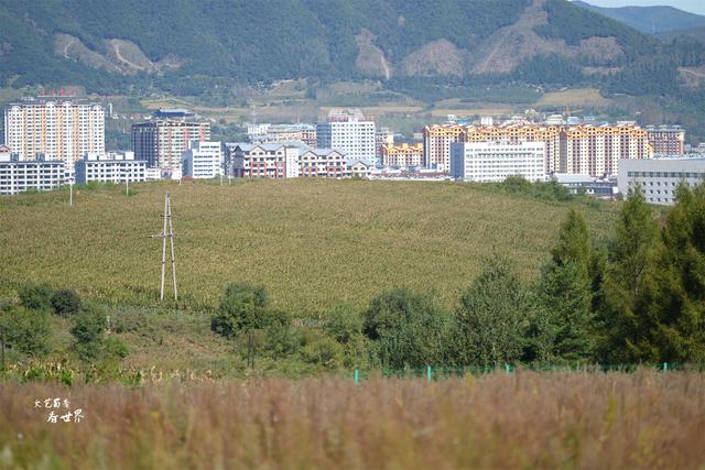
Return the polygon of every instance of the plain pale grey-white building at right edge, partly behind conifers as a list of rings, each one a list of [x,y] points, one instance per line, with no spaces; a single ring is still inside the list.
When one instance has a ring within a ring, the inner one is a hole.
[[[627,196],[641,186],[647,203],[673,205],[680,183],[695,187],[705,181],[705,159],[649,159],[619,161],[617,187]]]

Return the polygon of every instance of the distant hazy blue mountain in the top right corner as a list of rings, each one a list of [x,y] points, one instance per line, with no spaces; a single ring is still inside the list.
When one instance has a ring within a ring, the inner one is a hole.
[[[688,13],[673,7],[604,8],[579,0],[575,1],[575,4],[609,17],[647,34],[705,28],[705,17]]]

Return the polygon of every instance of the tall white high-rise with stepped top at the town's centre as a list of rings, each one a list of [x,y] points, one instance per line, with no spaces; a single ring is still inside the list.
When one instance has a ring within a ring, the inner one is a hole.
[[[341,151],[348,159],[375,162],[375,122],[357,109],[332,110],[316,125],[317,146]]]

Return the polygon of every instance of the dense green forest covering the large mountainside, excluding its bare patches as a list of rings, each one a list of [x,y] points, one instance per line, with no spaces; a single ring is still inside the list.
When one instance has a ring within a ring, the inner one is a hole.
[[[236,84],[285,78],[307,77],[321,84],[381,78],[357,66],[356,36],[362,31],[372,34],[373,44],[393,70],[386,88],[426,101],[462,97],[531,102],[536,91],[527,85],[589,84],[611,92],[663,95],[669,87],[677,88],[675,67],[704,64],[699,54],[692,53],[697,42],[673,42],[665,47],[607,17],[565,0],[549,0],[544,6],[549,21],[536,28],[540,35],[563,40],[570,46],[595,36],[615,37],[623,54],[609,59],[599,54],[539,55],[527,57],[511,74],[501,75],[473,74],[471,59],[465,61],[462,76],[410,77],[402,72],[403,61],[411,53],[441,39],[467,51],[468,57],[482,54],[485,48],[478,44],[516,23],[530,3],[443,0],[430,11],[427,3],[419,0],[6,0],[0,2],[0,83],[13,87],[73,84],[104,94],[161,90],[208,96],[214,90],[227,95]],[[78,37],[88,50],[104,56],[109,55],[105,40],[128,40],[154,63],[175,59],[181,65],[159,74],[95,69],[56,54],[55,34]],[[671,57],[671,62],[660,61],[660,55]],[[657,67],[665,70],[649,74],[643,69],[648,67],[643,58],[652,56],[659,58]],[[605,78],[585,75],[584,66],[623,69]],[[350,102],[360,106],[365,100],[354,98]],[[119,139],[116,135],[111,139]]]

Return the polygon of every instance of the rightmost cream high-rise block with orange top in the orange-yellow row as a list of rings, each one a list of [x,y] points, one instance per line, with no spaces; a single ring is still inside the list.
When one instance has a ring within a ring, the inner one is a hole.
[[[633,123],[567,125],[561,130],[561,173],[617,175],[621,159],[651,156],[646,129]]]

